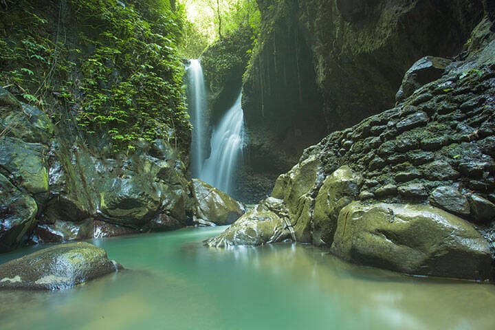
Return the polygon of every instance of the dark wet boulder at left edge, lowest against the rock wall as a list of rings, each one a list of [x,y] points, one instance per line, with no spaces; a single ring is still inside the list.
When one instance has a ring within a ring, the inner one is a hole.
[[[28,239],[36,223],[36,201],[0,174],[0,253],[17,248]]]

